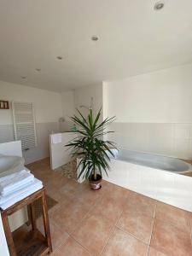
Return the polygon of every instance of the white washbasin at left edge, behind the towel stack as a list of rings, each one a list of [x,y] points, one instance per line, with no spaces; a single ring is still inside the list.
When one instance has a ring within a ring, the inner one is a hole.
[[[16,155],[0,154],[0,177],[24,169],[24,159]]]

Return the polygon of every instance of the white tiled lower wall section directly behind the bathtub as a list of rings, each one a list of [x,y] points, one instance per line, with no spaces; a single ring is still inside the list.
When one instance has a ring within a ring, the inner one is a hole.
[[[119,148],[192,159],[191,124],[114,123],[110,139]]]

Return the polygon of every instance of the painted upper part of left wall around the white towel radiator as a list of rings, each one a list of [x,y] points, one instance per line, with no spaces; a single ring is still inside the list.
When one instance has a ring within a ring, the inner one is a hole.
[[[0,81],[0,96],[9,102],[33,102],[37,123],[58,122],[61,117],[61,95],[59,93]],[[0,125],[13,123],[10,109],[1,110],[0,116]]]

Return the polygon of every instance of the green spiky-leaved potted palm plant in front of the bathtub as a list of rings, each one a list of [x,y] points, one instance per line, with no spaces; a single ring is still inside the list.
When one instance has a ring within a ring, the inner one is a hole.
[[[79,110],[79,116],[74,115],[71,117],[77,127],[75,131],[77,137],[66,146],[73,148],[73,156],[80,158],[79,166],[81,166],[81,171],[79,172],[79,177],[83,176],[83,178],[89,179],[90,188],[97,190],[102,187],[102,172],[106,172],[108,175],[109,156],[114,156],[112,148],[116,148],[113,142],[103,139],[104,135],[113,132],[106,131],[106,128],[113,122],[115,117],[104,119],[101,122],[99,119],[102,108],[96,114],[96,118],[93,116],[92,108],[89,111],[87,118],[84,118],[84,115]]]

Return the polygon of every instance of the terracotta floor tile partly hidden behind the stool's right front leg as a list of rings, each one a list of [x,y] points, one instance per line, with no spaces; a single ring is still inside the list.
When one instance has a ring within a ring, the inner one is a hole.
[[[40,230],[42,234],[44,234],[43,218],[38,218],[37,224],[38,224],[38,230]],[[61,229],[58,225],[56,225],[51,218],[49,218],[49,226],[50,226],[52,247],[53,247],[53,250],[55,250],[55,248],[60,247],[63,242],[67,241],[67,238],[69,237],[69,235],[65,230]]]

